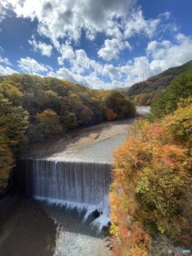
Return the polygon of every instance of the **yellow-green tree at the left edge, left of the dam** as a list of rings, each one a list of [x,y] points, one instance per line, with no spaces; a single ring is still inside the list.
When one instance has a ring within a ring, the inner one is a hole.
[[[26,149],[27,126],[27,112],[0,94],[0,193],[7,186],[14,157]]]

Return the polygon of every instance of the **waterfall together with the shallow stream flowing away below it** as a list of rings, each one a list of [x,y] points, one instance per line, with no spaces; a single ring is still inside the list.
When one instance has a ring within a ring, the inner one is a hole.
[[[18,165],[26,175],[26,194],[54,203],[54,206],[46,205],[46,210],[58,222],[54,256],[110,255],[95,226],[101,230],[110,221],[111,163],[29,158],[19,160]],[[90,225],[86,220],[96,209],[101,215],[92,218]]]

